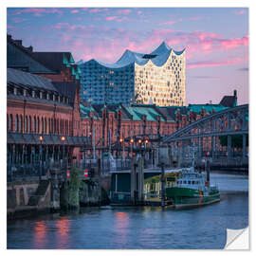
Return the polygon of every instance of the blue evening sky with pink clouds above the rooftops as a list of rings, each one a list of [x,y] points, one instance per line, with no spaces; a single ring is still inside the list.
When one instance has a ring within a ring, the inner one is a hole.
[[[7,9],[7,31],[34,51],[70,51],[75,62],[150,53],[163,41],[186,48],[189,103],[219,103],[237,90],[248,103],[247,8]]]

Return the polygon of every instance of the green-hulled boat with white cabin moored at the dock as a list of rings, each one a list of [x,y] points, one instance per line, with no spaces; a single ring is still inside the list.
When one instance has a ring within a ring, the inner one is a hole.
[[[218,187],[210,184],[210,173],[197,172],[194,158],[192,167],[182,169],[174,185],[166,188],[166,196],[176,209],[199,207],[220,201]]]

